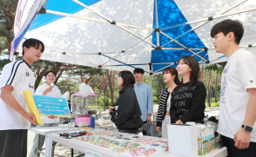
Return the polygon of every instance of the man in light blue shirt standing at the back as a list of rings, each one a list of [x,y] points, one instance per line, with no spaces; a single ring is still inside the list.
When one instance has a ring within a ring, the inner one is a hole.
[[[144,124],[148,121],[152,121],[152,107],[153,107],[153,95],[152,87],[143,82],[144,69],[134,69],[133,74],[136,80],[134,84],[134,90],[138,99],[138,104],[141,110],[141,120]]]

